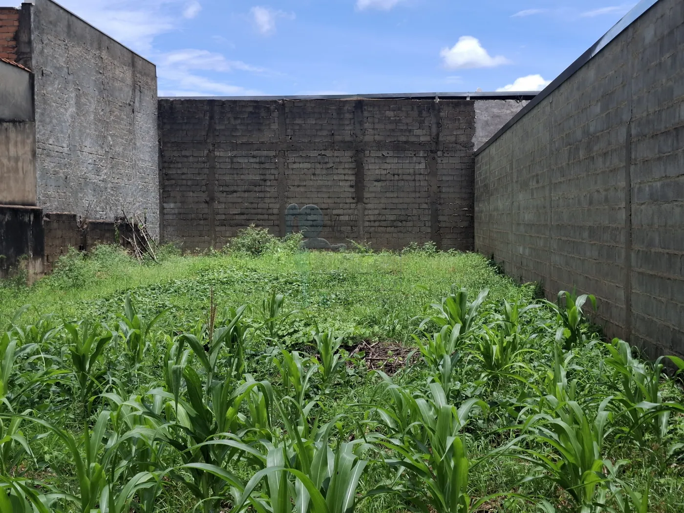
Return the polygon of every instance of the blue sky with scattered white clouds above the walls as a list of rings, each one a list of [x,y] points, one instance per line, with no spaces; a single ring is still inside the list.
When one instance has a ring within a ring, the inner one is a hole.
[[[61,0],[160,96],[539,90],[635,0]]]

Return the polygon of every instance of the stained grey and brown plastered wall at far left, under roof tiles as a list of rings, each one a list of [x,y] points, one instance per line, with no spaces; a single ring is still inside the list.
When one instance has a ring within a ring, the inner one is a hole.
[[[36,205],[33,77],[0,61],[0,205]]]

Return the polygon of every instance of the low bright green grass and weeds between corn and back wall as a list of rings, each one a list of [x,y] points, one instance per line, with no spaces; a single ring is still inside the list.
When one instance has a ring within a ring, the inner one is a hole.
[[[488,287],[494,299],[531,293],[495,274],[478,254],[171,254],[159,264],[137,265],[118,250],[100,246],[92,257],[64,258],[55,274],[30,289],[0,288],[0,326],[25,304],[31,305],[25,321],[45,313],[100,318],[118,313],[129,291],[143,311],[172,308],[173,324],[192,323],[207,309],[212,289],[220,306],[235,306],[259,304],[275,288],[288,304],[319,322],[373,332],[390,319],[405,324],[453,284],[471,291]]]

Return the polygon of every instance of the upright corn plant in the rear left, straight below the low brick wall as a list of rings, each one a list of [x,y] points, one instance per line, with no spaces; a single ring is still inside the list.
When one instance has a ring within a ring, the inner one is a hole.
[[[98,359],[112,339],[109,330],[103,330],[101,324],[90,326],[88,321],[79,324],[64,324],[70,337],[69,353],[74,367],[74,377],[79,389],[79,399],[83,412],[87,416],[94,393],[100,389],[101,379],[105,371],[98,369]]]

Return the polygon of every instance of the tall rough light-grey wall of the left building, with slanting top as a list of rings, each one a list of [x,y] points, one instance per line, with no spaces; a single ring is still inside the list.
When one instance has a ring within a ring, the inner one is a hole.
[[[51,0],[23,5],[36,76],[38,205],[90,219],[146,211],[159,225],[155,66]]]

